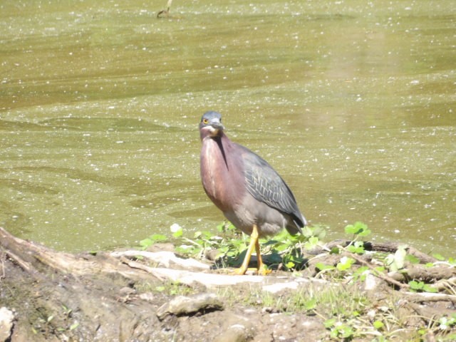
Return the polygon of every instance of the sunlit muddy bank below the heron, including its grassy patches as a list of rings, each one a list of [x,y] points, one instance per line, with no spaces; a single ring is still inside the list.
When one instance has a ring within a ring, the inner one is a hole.
[[[299,274],[229,276],[209,261],[170,251],[73,255],[0,229],[0,341],[452,341],[448,338],[456,336],[451,321],[442,326],[442,318],[456,315],[455,266],[427,267],[426,256],[408,265],[410,271],[372,271],[354,279],[358,267],[376,265],[351,254],[356,267],[343,280],[316,267],[316,261],[335,265],[343,257],[319,254]],[[410,291],[410,274],[437,292]]]

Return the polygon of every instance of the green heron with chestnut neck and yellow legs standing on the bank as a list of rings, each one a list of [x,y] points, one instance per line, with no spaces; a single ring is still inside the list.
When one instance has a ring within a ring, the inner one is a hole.
[[[250,235],[242,266],[234,274],[245,274],[255,248],[258,273],[264,268],[259,238],[286,228],[297,234],[306,225],[296,199],[285,181],[263,158],[229,140],[222,115],[209,111],[199,123],[202,140],[201,180],[204,191],[237,229]]]

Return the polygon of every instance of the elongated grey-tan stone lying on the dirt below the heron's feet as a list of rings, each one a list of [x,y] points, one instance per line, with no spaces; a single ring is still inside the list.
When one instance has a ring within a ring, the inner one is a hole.
[[[223,304],[215,294],[177,296],[158,308],[157,317],[162,320],[168,315],[190,316],[198,312],[214,310],[223,310]]]

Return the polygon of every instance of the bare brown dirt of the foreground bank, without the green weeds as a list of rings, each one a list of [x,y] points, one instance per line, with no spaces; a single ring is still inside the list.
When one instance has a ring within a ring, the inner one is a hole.
[[[348,289],[348,284],[314,282],[309,274],[226,276],[210,268],[182,271],[168,261],[125,255],[64,254],[3,229],[0,248],[0,308],[14,316],[3,326],[0,316],[0,341],[389,341],[375,331],[331,336],[328,316],[287,308],[284,303],[297,291]],[[454,267],[448,276],[454,277]],[[247,280],[234,284],[232,279]],[[284,288],[264,295],[265,286],[276,284]],[[425,299],[383,280],[374,289],[366,289],[364,282],[355,286],[356,291],[340,293],[367,299],[369,307],[357,322],[368,326],[370,314],[385,312],[387,324],[397,321],[397,331],[383,329],[395,341],[451,341],[445,336],[456,336],[454,327],[440,334],[435,326],[437,316],[456,314],[454,295]],[[358,301],[343,301],[352,300]],[[326,305],[324,312],[331,312],[331,303]],[[432,324],[435,328],[417,337],[418,329]],[[355,323],[352,328],[363,331]]]

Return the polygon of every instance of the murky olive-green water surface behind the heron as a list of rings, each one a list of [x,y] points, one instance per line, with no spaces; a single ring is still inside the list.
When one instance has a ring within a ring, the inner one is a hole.
[[[0,224],[66,251],[222,214],[197,124],[268,160],[311,224],[456,249],[456,8],[442,1],[1,1]],[[454,253],[453,253],[454,255]]]

